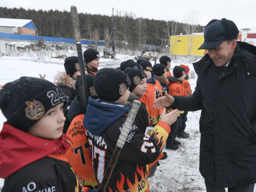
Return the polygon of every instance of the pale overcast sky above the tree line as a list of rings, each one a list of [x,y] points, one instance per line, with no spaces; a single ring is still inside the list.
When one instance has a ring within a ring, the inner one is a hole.
[[[175,20],[183,22],[184,13],[195,10],[199,24],[206,25],[212,19],[227,18],[236,23],[238,29],[256,29],[256,0],[0,0],[1,7],[42,10],[67,10],[72,5],[79,13],[112,15],[114,11],[126,10],[137,17],[154,20]]]

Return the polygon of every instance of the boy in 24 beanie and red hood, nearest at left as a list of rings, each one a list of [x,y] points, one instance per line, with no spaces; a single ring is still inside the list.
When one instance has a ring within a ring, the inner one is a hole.
[[[81,190],[66,159],[62,89],[48,80],[21,77],[0,91],[7,122],[0,133],[2,191]]]

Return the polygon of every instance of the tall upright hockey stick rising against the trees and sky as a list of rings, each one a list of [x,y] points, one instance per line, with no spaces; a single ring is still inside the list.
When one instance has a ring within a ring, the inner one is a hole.
[[[71,17],[72,17],[73,30],[74,30],[74,39],[76,41],[79,68],[81,73],[80,76],[77,76],[77,84],[79,86],[79,94],[82,102],[82,107],[85,113],[85,109],[87,108],[86,106],[88,103],[88,88],[87,88],[87,81],[85,77],[85,70],[84,70],[85,66],[84,66],[81,36],[80,36],[79,21],[78,21],[76,6],[71,6]]]

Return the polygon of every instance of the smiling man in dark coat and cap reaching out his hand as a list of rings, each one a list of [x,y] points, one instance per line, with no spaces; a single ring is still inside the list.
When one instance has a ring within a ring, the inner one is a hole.
[[[166,94],[153,106],[202,110],[199,169],[207,192],[251,192],[256,183],[256,48],[237,37],[232,21],[210,21],[199,48],[208,54],[193,63],[193,95]]]

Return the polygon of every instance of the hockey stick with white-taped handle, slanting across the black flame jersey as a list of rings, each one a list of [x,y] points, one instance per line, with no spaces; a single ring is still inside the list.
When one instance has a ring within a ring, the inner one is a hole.
[[[105,171],[104,177],[101,182],[101,186],[99,187],[99,192],[104,192],[107,188],[108,181],[115,168],[121,149],[123,149],[124,143],[126,142],[126,138],[130,132],[130,127],[132,127],[132,123],[135,119],[138,109],[140,108],[140,104],[140,101],[134,100],[132,103],[132,107],[130,107],[129,114],[127,116],[126,122],[124,123],[123,130],[118,138],[115,150],[112,154],[112,157],[110,158],[110,162],[108,163],[107,170]]]

